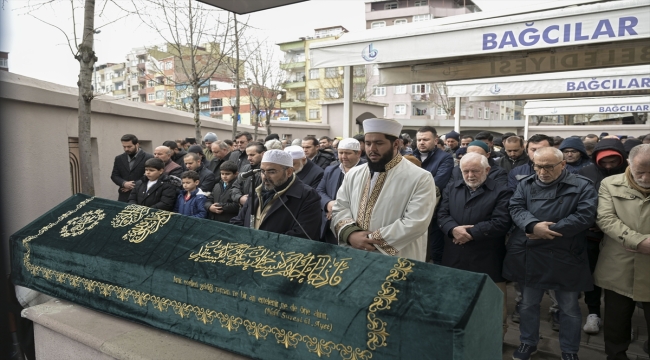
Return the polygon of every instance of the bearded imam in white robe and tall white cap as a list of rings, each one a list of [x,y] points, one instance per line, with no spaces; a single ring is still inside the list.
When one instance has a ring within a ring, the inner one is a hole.
[[[425,261],[433,177],[399,154],[402,124],[367,119],[363,129],[368,163],[345,175],[330,227],[339,244]]]

